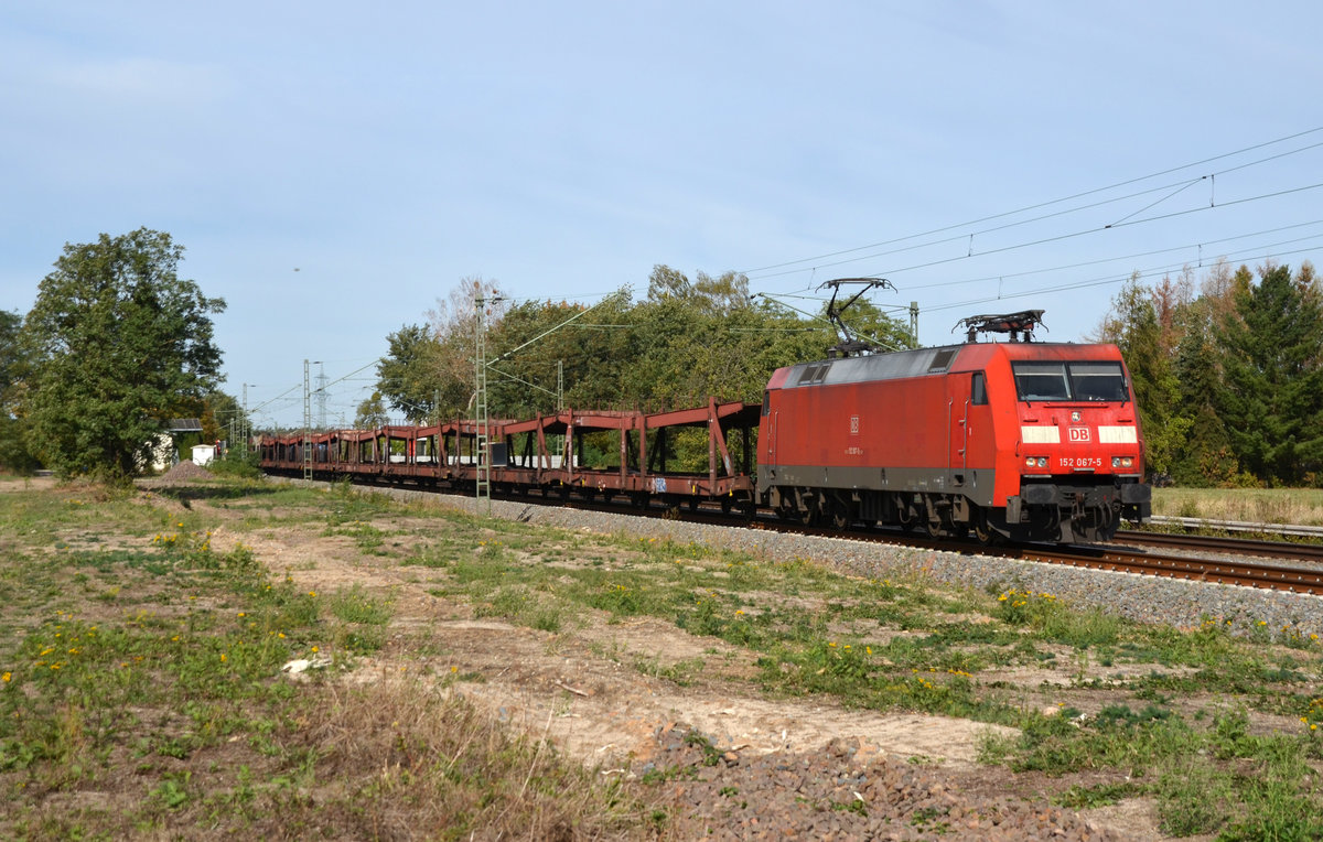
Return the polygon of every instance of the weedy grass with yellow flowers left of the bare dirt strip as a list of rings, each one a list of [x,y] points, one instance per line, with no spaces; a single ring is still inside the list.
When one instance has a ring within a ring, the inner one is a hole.
[[[556,838],[636,823],[617,784],[458,695],[345,687],[335,670],[283,678],[295,658],[352,669],[380,649],[390,600],[274,579],[242,543],[213,546],[205,516],[163,502],[177,497],[0,494],[0,835]]]

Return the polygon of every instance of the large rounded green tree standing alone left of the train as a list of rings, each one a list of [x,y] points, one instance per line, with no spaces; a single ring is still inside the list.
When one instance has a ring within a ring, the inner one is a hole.
[[[184,247],[139,229],[65,245],[24,324],[32,438],[62,476],[122,480],[148,464],[164,423],[220,381],[210,313],[177,275]]]

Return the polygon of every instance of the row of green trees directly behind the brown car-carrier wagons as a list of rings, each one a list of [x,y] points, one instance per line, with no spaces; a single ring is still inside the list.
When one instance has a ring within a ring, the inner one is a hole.
[[[557,404],[662,411],[700,406],[709,395],[755,402],[777,367],[820,360],[840,341],[820,311],[750,296],[736,272],[691,279],[656,266],[646,296],[622,289],[591,309],[505,299],[499,284],[470,279],[426,321],[390,333],[376,391],[355,426],[381,423],[392,411],[411,423],[472,412],[479,300],[495,418],[532,418]],[[913,346],[909,326],[869,301],[847,316],[882,348]]]

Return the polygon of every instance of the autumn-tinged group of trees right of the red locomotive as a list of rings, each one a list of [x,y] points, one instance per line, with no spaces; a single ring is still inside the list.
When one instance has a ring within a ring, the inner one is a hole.
[[[1132,276],[1093,338],[1126,358],[1159,478],[1323,482],[1323,287],[1308,262]]]

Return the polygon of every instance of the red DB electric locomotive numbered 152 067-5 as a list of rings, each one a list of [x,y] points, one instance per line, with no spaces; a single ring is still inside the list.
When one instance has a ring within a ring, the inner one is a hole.
[[[963,345],[778,369],[758,490],[783,517],[980,541],[1106,541],[1150,514],[1115,345],[1033,342],[1043,311],[964,320]],[[976,342],[979,330],[1009,342]],[[1025,341],[1017,341],[1020,336]]]

